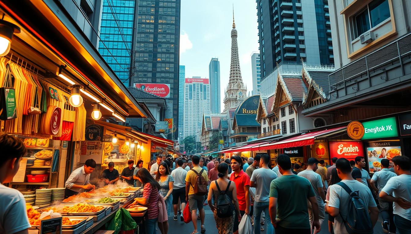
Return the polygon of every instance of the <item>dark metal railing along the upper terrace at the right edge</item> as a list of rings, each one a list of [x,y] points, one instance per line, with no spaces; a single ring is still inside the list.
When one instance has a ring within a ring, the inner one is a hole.
[[[406,34],[395,41],[375,50],[364,57],[353,61],[328,76],[330,90],[358,77],[369,77],[370,74],[385,69],[384,67],[398,64],[404,67],[402,57],[411,54],[411,33]]]

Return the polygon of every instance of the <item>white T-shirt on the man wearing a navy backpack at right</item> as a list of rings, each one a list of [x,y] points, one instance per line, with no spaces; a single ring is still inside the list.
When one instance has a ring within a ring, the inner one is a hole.
[[[358,195],[367,207],[377,206],[368,186],[361,182],[358,182],[355,179],[344,179],[342,180],[342,182],[346,184],[351,189],[351,191],[358,191]],[[339,216],[335,217],[334,220],[334,233],[348,234],[341,216],[343,216],[345,219],[347,218],[349,202],[350,195],[341,186],[339,186],[338,184],[333,184],[330,186],[330,199],[328,206],[338,208],[340,214]]]

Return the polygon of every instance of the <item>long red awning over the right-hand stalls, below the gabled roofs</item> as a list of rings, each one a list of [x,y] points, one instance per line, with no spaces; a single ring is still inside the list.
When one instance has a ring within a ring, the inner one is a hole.
[[[335,127],[335,128],[320,130],[316,132],[309,132],[309,133],[302,134],[300,136],[295,136],[295,137],[292,137],[290,139],[286,139],[283,141],[260,145],[258,150],[272,150],[272,149],[298,147],[298,146],[304,146],[304,145],[313,145],[314,139],[316,139],[317,137],[330,134],[333,132],[341,132],[342,130],[345,130],[345,128],[346,127]]]

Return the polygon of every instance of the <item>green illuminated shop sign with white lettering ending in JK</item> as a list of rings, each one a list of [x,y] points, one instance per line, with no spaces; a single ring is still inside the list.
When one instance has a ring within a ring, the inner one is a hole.
[[[398,136],[395,117],[363,122],[364,136],[361,140],[378,139]]]

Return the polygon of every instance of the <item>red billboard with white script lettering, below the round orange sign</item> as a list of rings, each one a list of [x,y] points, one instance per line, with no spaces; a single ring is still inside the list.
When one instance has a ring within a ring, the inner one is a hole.
[[[361,141],[330,141],[330,157],[346,158],[353,160],[357,156],[364,157],[363,143]]]

